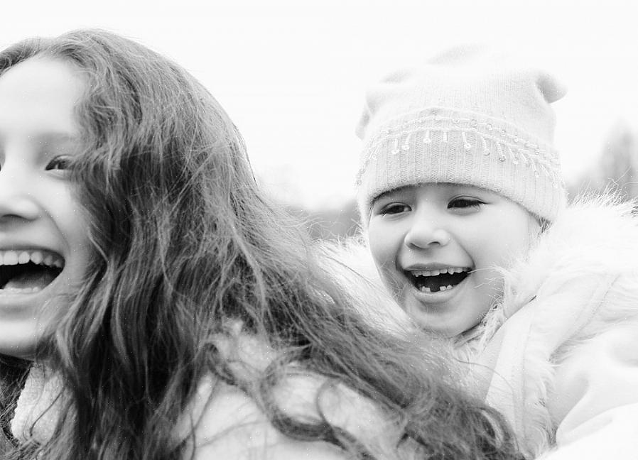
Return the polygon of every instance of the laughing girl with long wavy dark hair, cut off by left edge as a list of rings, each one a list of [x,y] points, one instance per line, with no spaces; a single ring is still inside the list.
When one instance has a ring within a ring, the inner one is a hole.
[[[5,458],[517,456],[440,349],[362,319],[207,90],[131,40],[0,53],[0,256]]]

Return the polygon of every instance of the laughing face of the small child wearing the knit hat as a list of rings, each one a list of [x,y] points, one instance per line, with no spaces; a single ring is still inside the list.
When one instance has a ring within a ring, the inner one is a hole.
[[[424,329],[455,336],[502,293],[495,267],[526,251],[539,224],[519,204],[468,185],[426,184],[372,204],[369,243],[379,273]]]

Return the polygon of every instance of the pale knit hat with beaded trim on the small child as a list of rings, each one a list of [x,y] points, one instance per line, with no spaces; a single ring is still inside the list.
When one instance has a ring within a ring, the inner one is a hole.
[[[551,102],[566,89],[547,72],[481,48],[455,48],[369,89],[357,202],[406,185],[492,190],[552,221],[566,203]]]

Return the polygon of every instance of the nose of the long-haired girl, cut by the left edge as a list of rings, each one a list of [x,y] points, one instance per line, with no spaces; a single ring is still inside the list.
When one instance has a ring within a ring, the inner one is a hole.
[[[0,225],[38,219],[40,209],[33,197],[37,185],[18,168],[0,167]]]

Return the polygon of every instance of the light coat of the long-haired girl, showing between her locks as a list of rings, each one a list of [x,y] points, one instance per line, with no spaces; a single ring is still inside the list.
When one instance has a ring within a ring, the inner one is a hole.
[[[215,345],[229,359],[229,369],[247,382],[269,366],[277,352],[258,336],[242,332],[239,322]],[[316,395],[321,391],[323,416],[363,442],[378,459],[416,460],[418,449],[406,443],[397,451],[402,429],[382,407],[345,385],[322,388],[326,376],[291,366],[271,396],[283,413],[320,420]],[[34,365],[18,398],[11,432],[18,442],[44,443],[53,436],[62,410],[63,385],[54,373]],[[175,442],[185,442],[184,459],[346,460],[334,444],[303,441],[282,434],[258,402],[241,388],[205,375],[175,425]],[[0,450],[0,453],[2,450]]]

